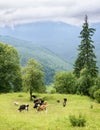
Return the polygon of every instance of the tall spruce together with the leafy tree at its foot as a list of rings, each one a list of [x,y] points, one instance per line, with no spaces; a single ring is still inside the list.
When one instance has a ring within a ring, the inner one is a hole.
[[[96,66],[96,56],[94,54],[95,46],[92,44],[92,36],[95,29],[89,28],[87,16],[80,32],[81,44],[79,45],[78,57],[74,64],[74,74],[77,77],[77,93],[89,95],[90,89],[95,85],[95,79],[98,77],[98,67]]]

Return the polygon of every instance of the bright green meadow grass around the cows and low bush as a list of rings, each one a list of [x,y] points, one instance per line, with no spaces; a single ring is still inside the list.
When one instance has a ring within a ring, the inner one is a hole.
[[[0,130],[100,130],[100,104],[86,96],[65,94],[37,94],[48,101],[46,112],[36,112],[28,93],[8,93],[0,95]],[[62,106],[63,98],[67,106]],[[60,99],[60,103],[56,100]],[[29,103],[29,111],[18,111],[20,104]],[[91,109],[91,105],[93,108]],[[72,127],[70,115],[85,115],[85,127]]]

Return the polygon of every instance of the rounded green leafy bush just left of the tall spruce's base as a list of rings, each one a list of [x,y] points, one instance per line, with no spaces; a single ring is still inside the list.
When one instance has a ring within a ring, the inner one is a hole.
[[[72,73],[58,72],[54,76],[54,87],[59,93],[75,93],[75,77]]]

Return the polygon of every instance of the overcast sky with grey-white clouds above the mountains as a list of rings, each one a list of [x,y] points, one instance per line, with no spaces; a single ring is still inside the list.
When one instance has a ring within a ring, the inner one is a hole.
[[[86,14],[90,23],[99,23],[100,0],[0,0],[0,26],[37,21],[80,25]]]

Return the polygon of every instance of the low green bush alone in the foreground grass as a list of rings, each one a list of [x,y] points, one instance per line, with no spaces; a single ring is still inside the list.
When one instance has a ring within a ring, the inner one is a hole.
[[[70,119],[70,123],[71,123],[72,126],[78,126],[78,127],[84,127],[85,126],[86,119],[81,114],[79,114],[78,117],[76,117],[75,115],[70,115],[69,119]]]

